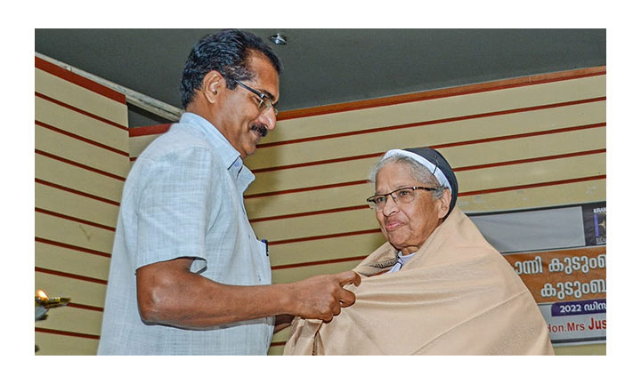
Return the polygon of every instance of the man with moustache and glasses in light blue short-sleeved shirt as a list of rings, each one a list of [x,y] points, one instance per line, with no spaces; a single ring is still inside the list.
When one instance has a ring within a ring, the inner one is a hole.
[[[329,321],[352,271],[271,284],[242,194],[242,160],[276,124],[280,61],[258,37],[206,36],[183,70],[186,113],[127,177],[100,355],[265,355],[274,323]],[[275,320],[275,317],[278,320]],[[279,324],[276,324],[279,325]]]

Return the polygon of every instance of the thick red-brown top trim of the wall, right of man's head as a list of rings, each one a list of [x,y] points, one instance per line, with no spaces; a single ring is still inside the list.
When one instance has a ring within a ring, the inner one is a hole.
[[[427,92],[409,93],[405,95],[390,96],[372,100],[352,101],[347,103],[333,104],[329,106],[296,109],[293,111],[282,111],[279,120],[289,120],[309,116],[327,115],[339,112],[346,112],[355,109],[367,109],[386,107],[395,104],[433,100],[453,96],[462,96],[471,93],[499,91],[502,89],[523,87],[535,84],[548,84],[565,80],[579,79],[592,76],[604,76],[605,67],[580,68],[569,71],[541,74],[534,76],[523,76],[513,79],[498,80],[483,84],[470,84],[458,87],[451,87]]]

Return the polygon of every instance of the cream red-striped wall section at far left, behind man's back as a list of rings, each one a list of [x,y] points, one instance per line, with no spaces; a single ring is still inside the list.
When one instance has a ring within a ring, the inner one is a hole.
[[[38,355],[94,355],[129,172],[125,97],[36,58],[35,286],[70,297],[36,323]]]

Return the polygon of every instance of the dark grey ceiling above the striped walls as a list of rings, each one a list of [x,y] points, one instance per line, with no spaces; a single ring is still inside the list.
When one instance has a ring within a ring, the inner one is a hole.
[[[218,29],[36,29],[36,52],[176,108],[183,64]],[[246,29],[283,62],[280,110],[605,65],[605,29]],[[270,43],[272,44],[272,43]],[[130,106],[129,125],[166,123]]]

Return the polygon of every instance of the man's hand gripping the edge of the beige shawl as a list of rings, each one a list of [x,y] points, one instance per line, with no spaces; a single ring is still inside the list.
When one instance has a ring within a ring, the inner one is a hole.
[[[303,318],[331,321],[341,308],[351,306],[356,300],[353,292],[345,290],[347,284],[361,284],[361,276],[353,271],[335,275],[321,275],[288,284],[293,299],[291,312]]]

